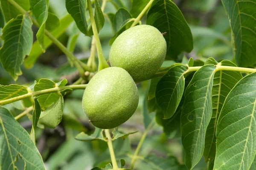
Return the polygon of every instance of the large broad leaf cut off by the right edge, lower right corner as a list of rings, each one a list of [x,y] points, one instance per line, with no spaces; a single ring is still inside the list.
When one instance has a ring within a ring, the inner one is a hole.
[[[214,169],[248,170],[256,154],[256,73],[227,95],[216,129]]]

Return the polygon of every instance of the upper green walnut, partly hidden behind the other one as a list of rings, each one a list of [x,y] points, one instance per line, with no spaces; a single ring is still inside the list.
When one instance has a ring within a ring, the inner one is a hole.
[[[114,41],[109,61],[125,69],[135,82],[150,79],[166,56],[166,40],[154,26],[134,26]]]

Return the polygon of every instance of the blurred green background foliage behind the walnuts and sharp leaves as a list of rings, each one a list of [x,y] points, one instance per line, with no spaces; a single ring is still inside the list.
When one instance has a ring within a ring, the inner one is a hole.
[[[215,58],[217,61],[227,59],[234,61],[232,46],[230,42],[230,26],[227,14],[222,6],[221,0],[173,0],[183,13],[186,21],[192,31],[194,39],[194,49],[190,53],[183,53],[176,62],[187,63],[190,57],[205,61],[209,57]],[[100,1],[101,3],[101,1]],[[108,0],[105,8],[105,13],[116,13],[116,6],[131,9],[132,0]],[[64,0],[49,0],[49,11],[56,14],[60,19],[67,14]],[[87,15],[89,16],[89,15]],[[146,17],[142,23],[145,24]],[[67,45],[70,37],[76,30],[73,22],[64,34],[58,40],[64,45]],[[34,38],[37,32],[35,26],[32,27]],[[100,32],[100,40],[102,43],[103,53],[108,59],[109,40],[113,37],[114,32],[107,18],[105,25]],[[0,42],[2,45],[3,42]],[[91,37],[86,37],[82,33],[79,34],[74,54],[80,60],[86,62],[90,55]],[[169,66],[175,63],[174,61],[165,61],[164,65]],[[76,74],[76,68],[70,67],[66,56],[52,44],[47,51],[42,54],[38,61],[31,69],[25,69],[22,66],[23,75],[17,82],[13,81],[12,77],[3,70],[0,65],[0,84],[26,84],[30,85],[34,80],[40,78],[48,78],[52,81],[59,81],[67,78],[68,81]],[[148,116],[147,102],[147,87],[148,81],[137,84],[140,90],[140,102],[135,114],[125,124],[119,127],[119,130],[124,132],[139,131],[130,135],[125,140],[119,138],[115,140],[114,150],[117,159],[125,158],[127,164],[130,164],[130,156],[133,154],[137,144],[145,130],[143,122],[145,115]],[[92,133],[94,127],[88,122],[82,107],[81,99],[83,90],[75,90],[64,97],[64,115],[61,124],[55,129],[37,128],[36,143],[39,152],[41,153],[46,167],[49,170],[90,170],[90,168],[98,166],[105,167],[110,160],[107,144],[103,141],[81,142],[76,141],[74,137],[81,131]],[[18,115],[24,108],[24,103],[21,101],[9,104],[6,107],[13,115]],[[143,109],[144,108],[144,109]],[[143,114],[144,112],[144,114]],[[146,113],[145,113],[146,112]],[[149,113],[150,117],[154,117],[154,112]],[[144,115],[144,116],[143,116]],[[32,122],[28,118],[21,118],[20,124],[30,132]],[[158,122],[159,123],[159,122]],[[179,124],[178,124],[179,126]],[[156,155],[159,158],[169,158],[170,156],[177,157],[177,160],[183,163],[183,149],[180,138],[172,132],[171,135],[163,133],[163,127],[155,125],[148,133],[145,142],[143,143],[140,156],[144,159],[138,159],[135,165],[137,170],[159,170],[157,164],[146,159],[148,155]],[[207,166],[204,160],[197,165],[195,169],[201,170]]]

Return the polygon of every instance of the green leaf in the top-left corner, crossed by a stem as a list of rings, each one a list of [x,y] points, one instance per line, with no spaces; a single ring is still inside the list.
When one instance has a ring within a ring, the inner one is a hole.
[[[17,4],[19,4],[25,11],[29,11],[30,5],[29,0],[14,0]],[[15,8],[8,0],[0,0],[1,9],[3,12],[4,19],[6,23],[12,18],[17,17],[21,12]]]

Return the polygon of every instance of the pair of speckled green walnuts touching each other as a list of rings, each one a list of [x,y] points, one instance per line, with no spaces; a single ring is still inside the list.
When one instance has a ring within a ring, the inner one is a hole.
[[[135,112],[139,93],[135,82],[148,80],[166,56],[166,40],[153,26],[134,26],[114,41],[109,55],[111,67],[99,71],[88,83],[83,109],[90,122],[112,129]]]

